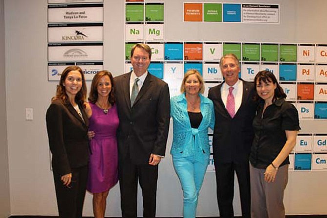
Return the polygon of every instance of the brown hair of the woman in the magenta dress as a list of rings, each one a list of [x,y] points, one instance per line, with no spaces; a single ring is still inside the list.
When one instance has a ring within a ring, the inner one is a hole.
[[[97,87],[98,87],[98,84],[99,84],[99,80],[103,76],[108,76],[109,79],[110,79],[111,91],[109,93],[108,102],[111,105],[113,105],[116,102],[114,78],[112,77],[112,74],[107,70],[99,71],[97,74],[94,75],[93,80],[92,80],[92,84],[91,84],[91,90],[90,90],[88,100],[90,102],[92,102],[93,104],[95,104],[97,102],[97,100],[98,100],[98,89],[97,89]]]

